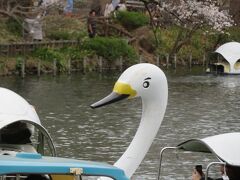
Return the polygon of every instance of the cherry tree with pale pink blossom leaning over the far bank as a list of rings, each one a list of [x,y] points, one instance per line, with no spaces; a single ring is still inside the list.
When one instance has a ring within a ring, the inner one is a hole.
[[[156,33],[166,24],[179,27],[177,38],[170,55],[190,42],[194,33],[203,27],[223,33],[226,27],[233,25],[227,11],[221,10],[216,0],[141,0],[151,18],[151,26]],[[157,42],[158,45],[158,42]]]

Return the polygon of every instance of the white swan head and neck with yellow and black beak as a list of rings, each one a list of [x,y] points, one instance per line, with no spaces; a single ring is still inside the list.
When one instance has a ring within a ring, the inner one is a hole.
[[[114,166],[130,178],[149,150],[167,106],[168,85],[163,71],[153,64],[136,64],[126,69],[114,85],[113,92],[91,105],[101,107],[124,98],[142,99],[142,118],[127,150]]]

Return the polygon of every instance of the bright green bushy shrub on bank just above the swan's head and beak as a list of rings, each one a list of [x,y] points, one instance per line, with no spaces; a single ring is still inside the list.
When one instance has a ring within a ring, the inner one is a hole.
[[[114,61],[120,57],[136,61],[137,53],[132,46],[120,38],[96,37],[83,42],[83,49],[94,51],[98,56]]]

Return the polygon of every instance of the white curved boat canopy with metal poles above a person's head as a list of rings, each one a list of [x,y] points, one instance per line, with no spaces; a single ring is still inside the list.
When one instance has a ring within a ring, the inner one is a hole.
[[[165,147],[160,152],[160,166],[158,172],[158,180],[161,175],[161,166],[163,153],[169,149],[175,149],[188,152],[211,153],[219,160],[211,162],[206,169],[205,179],[208,178],[208,171],[211,166],[216,164],[230,165],[240,168],[240,133],[225,133],[215,136],[206,137],[204,139],[190,139],[180,143],[176,147]]]

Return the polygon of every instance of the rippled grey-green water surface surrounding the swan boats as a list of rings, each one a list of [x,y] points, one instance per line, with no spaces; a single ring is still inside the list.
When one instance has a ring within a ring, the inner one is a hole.
[[[167,75],[169,101],[161,129],[133,179],[156,179],[159,151],[190,138],[239,131],[240,77]],[[139,99],[92,110],[112,90],[117,76],[16,77],[0,79],[33,104],[52,135],[58,155],[113,163],[125,151],[141,116]],[[166,153],[162,179],[190,179],[202,154]],[[182,166],[184,165],[184,166]]]

